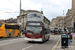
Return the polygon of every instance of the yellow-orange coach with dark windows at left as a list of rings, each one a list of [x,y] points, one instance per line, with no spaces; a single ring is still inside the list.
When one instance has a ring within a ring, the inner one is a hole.
[[[18,37],[18,36],[21,36],[18,25],[0,23],[0,37]]]

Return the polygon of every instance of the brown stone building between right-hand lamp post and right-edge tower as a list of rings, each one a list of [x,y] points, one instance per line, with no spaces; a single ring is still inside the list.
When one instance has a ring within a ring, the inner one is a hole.
[[[68,9],[68,12],[65,17],[65,25],[68,29],[72,28],[72,10],[70,9]]]

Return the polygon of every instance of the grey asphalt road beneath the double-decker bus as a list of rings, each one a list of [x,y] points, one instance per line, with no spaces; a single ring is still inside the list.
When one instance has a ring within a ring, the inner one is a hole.
[[[0,50],[52,50],[59,40],[58,37],[51,37],[49,41],[44,43],[28,42],[22,38],[8,38],[0,41]]]

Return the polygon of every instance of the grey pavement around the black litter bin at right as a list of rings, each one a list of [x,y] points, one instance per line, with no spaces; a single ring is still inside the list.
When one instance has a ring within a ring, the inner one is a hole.
[[[58,43],[58,45],[56,46],[55,50],[75,50],[75,40],[72,39],[72,43],[70,43],[70,45],[68,45],[68,48],[61,48],[61,39]]]

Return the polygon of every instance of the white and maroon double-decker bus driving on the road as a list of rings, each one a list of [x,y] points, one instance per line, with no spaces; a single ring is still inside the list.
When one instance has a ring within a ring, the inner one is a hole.
[[[25,40],[44,42],[50,38],[50,21],[40,13],[29,13],[25,27]]]

